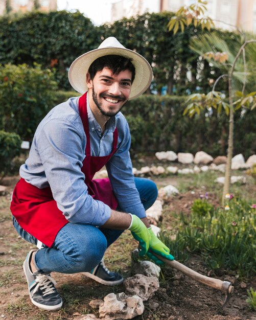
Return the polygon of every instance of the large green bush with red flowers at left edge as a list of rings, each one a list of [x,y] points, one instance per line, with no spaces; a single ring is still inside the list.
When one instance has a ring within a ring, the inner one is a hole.
[[[54,107],[56,88],[52,72],[37,64],[0,66],[0,129],[32,140],[38,123]]]

